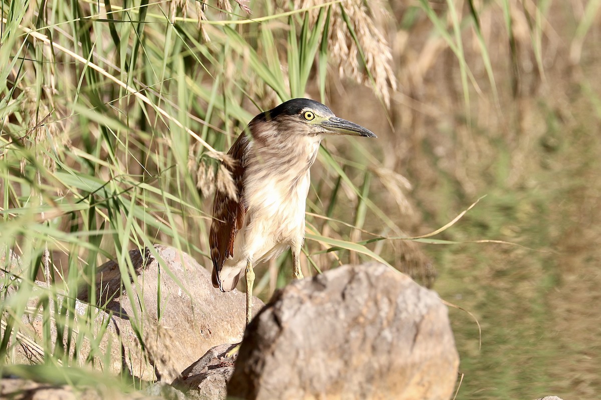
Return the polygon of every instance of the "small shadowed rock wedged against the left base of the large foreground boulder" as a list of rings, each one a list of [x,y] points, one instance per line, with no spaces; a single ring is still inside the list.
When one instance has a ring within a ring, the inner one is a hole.
[[[222,344],[207,351],[197,362],[186,368],[172,386],[183,390],[189,399],[225,399],[226,385],[234,372],[238,353],[228,354],[236,344]]]

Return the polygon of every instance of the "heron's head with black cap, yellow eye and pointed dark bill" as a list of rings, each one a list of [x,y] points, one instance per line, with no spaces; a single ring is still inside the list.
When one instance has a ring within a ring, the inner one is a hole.
[[[267,127],[274,127],[280,134],[287,135],[376,137],[370,130],[338,118],[328,107],[308,98],[288,100],[275,109],[257,115],[255,121],[263,122]]]

